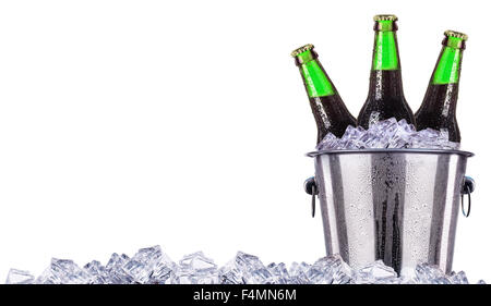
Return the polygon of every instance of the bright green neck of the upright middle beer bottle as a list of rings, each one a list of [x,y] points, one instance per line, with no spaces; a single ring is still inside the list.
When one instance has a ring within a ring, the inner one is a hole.
[[[375,41],[373,44],[372,70],[398,70],[397,25],[394,21],[375,23]]]

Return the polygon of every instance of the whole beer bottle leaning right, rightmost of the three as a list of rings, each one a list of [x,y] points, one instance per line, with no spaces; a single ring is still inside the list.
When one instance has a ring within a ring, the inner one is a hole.
[[[421,107],[416,112],[417,130],[446,130],[451,142],[460,143],[455,109],[463,51],[467,35],[446,30]]]

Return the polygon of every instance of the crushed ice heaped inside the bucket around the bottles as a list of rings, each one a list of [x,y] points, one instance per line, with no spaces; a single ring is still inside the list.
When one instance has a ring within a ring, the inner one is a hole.
[[[316,146],[318,150],[402,148],[458,149],[459,144],[448,140],[447,131],[416,131],[406,120],[397,122],[391,118],[371,124],[368,130],[349,125],[340,138],[328,133]]]

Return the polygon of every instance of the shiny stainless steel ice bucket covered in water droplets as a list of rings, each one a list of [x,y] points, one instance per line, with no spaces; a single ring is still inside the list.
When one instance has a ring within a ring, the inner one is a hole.
[[[470,200],[474,191],[465,176],[471,152],[366,149],[308,156],[315,160],[315,178],[306,189],[320,199],[327,255],[339,254],[355,268],[382,259],[403,276],[419,262],[451,272],[460,200],[464,194]]]

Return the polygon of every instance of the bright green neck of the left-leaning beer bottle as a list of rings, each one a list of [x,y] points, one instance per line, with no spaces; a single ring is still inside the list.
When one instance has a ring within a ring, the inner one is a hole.
[[[296,63],[300,69],[309,98],[336,94],[333,83],[318,60],[315,51],[307,50],[298,54]]]

